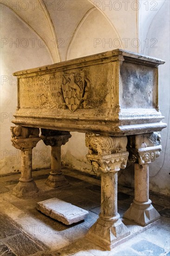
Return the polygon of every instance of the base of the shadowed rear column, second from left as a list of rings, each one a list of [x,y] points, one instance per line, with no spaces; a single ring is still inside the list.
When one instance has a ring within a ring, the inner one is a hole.
[[[51,172],[45,183],[46,185],[52,188],[57,188],[57,187],[61,187],[69,184],[69,182],[65,179],[65,176],[62,174],[62,172],[60,173]]]

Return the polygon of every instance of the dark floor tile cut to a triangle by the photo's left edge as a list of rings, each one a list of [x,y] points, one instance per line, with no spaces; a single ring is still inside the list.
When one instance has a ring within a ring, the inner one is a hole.
[[[6,216],[0,215],[0,239],[19,234],[21,231]]]

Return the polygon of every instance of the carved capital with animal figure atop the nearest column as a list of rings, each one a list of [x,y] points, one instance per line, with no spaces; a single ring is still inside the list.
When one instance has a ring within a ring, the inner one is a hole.
[[[126,137],[112,137],[87,133],[85,137],[86,155],[91,162],[93,172],[116,172],[126,167],[129,153],[126,151]]]

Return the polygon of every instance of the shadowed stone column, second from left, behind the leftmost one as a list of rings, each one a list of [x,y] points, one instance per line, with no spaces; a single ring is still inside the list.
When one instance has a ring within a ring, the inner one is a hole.
[[[69,132],[41,129],[41,139],[51,146],[51,172],[46,184],[52,188],[68,185],[68,181],[61,171],[61,145],[71,138]]]

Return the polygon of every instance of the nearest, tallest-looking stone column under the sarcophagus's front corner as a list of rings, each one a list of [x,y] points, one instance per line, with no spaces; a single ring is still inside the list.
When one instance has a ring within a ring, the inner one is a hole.
[[[117,206],[118,171],[126,167],[129,155],[126,145],[126,136],[86,134],[87,159],[92,163],[93,171],[101,173],[101,212],[86,236],[105,249],[111,249],[113,244],[130,235]]]

